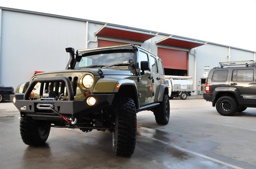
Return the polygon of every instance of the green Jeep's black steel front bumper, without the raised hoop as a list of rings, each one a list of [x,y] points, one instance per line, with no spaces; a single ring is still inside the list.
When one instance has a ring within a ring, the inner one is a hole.
[[[16,98],[14,105],[20,111],[21,116],[37,116],[37,117],[52,117],[58,118],[51,109],[38,109],[37,104],[52,105],[53,109],[60,114],[70,117],[76,117],[78,115],[88,115],[102,108],[108,107],[112,104],[115,94],[99,94],[88,95],[84,100],[72,100],[72,101],[43,101],[43,100],[23,100],[24,95],[11,95]],[[94,97],[96,102],[90,106],[87,104],[87,99]],[[52,112],[52,113],[51,113]],[[61,117],[60,117],[61,118]]]

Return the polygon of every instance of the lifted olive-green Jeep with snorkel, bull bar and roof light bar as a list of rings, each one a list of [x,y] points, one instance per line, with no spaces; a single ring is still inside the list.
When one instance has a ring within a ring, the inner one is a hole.
[[[35,74],[16,90],[25,93],[11,95],[20,111],[25,144],[44,144],[51,127],[108,130],[113,133],[114,153],[131,156],[136,113],[150,110],[157,124],[168,123],[168,85],[156,55],[133,44],[66,52],[66,70]]]

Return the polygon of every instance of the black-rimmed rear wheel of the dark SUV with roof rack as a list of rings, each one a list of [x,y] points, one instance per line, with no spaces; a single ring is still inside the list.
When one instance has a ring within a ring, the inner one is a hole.
[[[237,104],[233,97],[222,96],[216,102],[216,110],[222,116],[233,116],[237,111]]]

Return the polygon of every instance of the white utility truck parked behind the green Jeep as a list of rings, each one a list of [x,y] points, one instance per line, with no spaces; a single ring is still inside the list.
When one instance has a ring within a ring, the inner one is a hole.
[[[165,75],[165,84],[169,85],[169,98],[180,97],[185,100],[191,96],[193,89],[193,78],[191,76]]]

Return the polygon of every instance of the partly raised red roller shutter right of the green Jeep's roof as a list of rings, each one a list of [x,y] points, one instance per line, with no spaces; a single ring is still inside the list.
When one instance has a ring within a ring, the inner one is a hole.
[[[188,70],[188,52],[158,47],[157,55],[164,68]]]

